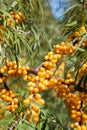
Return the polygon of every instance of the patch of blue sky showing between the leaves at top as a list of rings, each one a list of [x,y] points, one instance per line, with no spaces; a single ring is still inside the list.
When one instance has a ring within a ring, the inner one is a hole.
[[[64,9],[70,6],[70,3],[66,5],[64,4],[65,2],[67,2],[67,0],[50,0],[51,11],[54,18],[60,18],[64,12]]]

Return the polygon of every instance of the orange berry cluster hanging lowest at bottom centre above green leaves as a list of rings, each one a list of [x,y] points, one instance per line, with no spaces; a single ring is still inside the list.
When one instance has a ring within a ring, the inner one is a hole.
[[[23,104],[28,105],[30,104],[30,108],[26,112],[26,119],[27,121],[31,122],[39,122],[39,105],[44,105],[44,100],[41,99],[41,95],[31,94],[29,97],[23,100]]]

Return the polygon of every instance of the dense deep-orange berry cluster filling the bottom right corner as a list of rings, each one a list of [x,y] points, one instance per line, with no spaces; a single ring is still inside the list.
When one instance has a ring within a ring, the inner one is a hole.
[[[82,130],[83,126],[87,129],[87,126],[85,126],[85,123],[87,122],[87,114],[84,112],[85,102],[84,99],[81,98],[81,94],[82,93],[73,93],[71,97],[65,101],[65,104],[70,109],[71,118],[74,121],[71,123],[70,127],[72,129],[76,128],[77,130]]]

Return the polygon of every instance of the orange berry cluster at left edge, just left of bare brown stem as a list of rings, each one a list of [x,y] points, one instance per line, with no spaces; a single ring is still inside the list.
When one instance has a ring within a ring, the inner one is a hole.
[[[0,73],[3,74],[2,79],[5,74],[11,77],[18,77],[20,75],[25,76],[29,70],[28,66],[21,66],[20,62],[5,60],[4,65],[0,68]],[[8,77],[8,76],[5,76]]]

